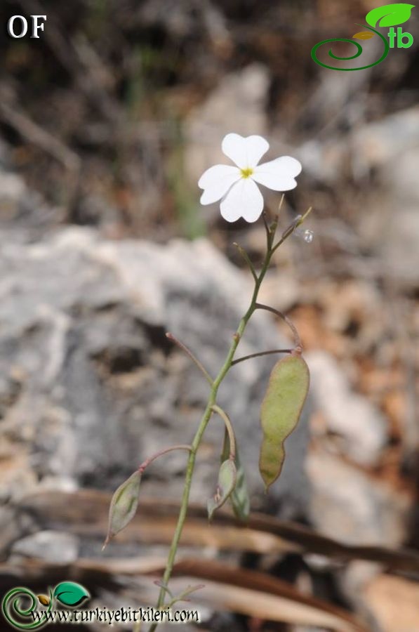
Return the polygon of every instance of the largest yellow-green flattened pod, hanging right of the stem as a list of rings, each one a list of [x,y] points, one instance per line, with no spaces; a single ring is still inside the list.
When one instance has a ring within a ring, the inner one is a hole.
[[[284,441],[298,423],[309,383],[308,367],[300,355],[283,357],[272,369],[260,411],[263,439],[259,470],[266,489],[281,473]]]

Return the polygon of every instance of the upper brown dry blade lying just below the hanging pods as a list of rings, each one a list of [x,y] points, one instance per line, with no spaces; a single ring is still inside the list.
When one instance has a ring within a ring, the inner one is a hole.
[[[62,526],[79,534],[106,531],[107,513],[112,494],[83,489],[77,492],[40,492],[20,501],[20,511],[30,513],[42,528]],[[121,541],[168,544],[173,534],[178,505],[173,501],[141,499],[138,515],[119,534]],[[381,546],[349,546],[322,536],[294,522],[277,520],[253,513],[248,526],[241,525],[227,511],[220,510],[208,526],[206,508],[192,505],[185,525],[182,544],[216,546],[225,550],[275,553],[300,551],[318,553],[338,560],[380,562],[392,571],[419,574],[419,555],[402,549],[392,551]]]

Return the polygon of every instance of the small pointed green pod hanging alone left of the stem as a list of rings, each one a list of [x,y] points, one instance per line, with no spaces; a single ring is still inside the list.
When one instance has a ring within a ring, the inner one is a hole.
[[[136,470],[130,478],[119,485],[112,496],[109,507],[109,525],[105,544],[117,535],[133,519],[138,507],[138,494],[140,493],[141,473]]]

